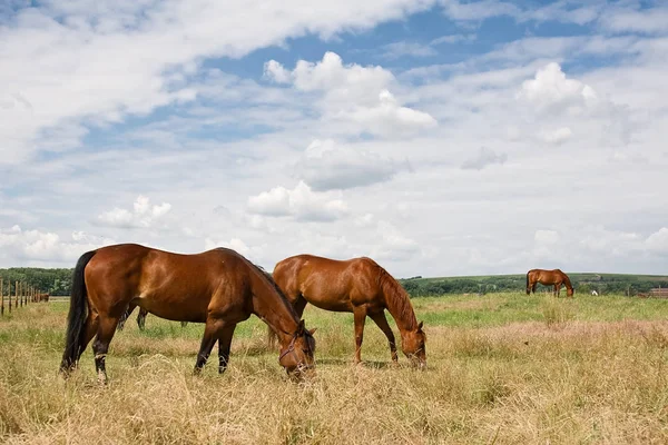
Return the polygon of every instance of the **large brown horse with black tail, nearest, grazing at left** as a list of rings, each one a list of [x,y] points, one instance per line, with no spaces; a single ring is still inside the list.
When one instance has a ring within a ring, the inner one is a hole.
[[[281,339],[279,364],[293,376],[314,367],[315,339],[281,289],[234,250],[179,255],[134,244],[84,254],[72,276],[72,296],[60,370],[67,376],[92,343],[99,379],[116,325],[129,305],[161,318],[205,323],[195,373],[218,342],[223,373],[237,323],[255,314]]]

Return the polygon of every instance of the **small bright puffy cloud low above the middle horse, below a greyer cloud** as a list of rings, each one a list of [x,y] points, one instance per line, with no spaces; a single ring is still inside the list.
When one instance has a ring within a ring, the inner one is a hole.
[[[274,187],[248,198],[248,210],[272,217],[294,217],[306,221],[333,221],[347,214],[347,206],[331,194],[311,190],[304,181],[294,189]]]

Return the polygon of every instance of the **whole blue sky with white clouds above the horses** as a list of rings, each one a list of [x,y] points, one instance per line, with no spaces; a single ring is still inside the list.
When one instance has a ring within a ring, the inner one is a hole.
[[[668,3],[0,1],[0,267],[668,274]]]

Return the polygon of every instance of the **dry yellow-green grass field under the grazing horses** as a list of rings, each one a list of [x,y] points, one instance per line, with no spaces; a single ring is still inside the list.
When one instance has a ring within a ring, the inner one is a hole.
[[[148,316],[114,338],[97,385],[90,348],[65,383],[67,303],[0,319],[0,442],[8,444],[665,444],[668,300],[489,294],[418,298],[426,372],[390,366],[367,322],[307,308],[317,374],[287,380],[266,328],[239,325],[227,373],[191,376],[202,325]],[[396,333],[396,329],[395,329]]]

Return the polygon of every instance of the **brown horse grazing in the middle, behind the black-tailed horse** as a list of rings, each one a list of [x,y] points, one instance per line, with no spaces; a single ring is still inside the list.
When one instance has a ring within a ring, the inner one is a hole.
[[[401,333],[402,350],[411,363],[426,366],[426,337],[418,324],[406,291],[371,258],[338,261],[312,255],[297,255],[279,261],[274,280],[293,304],[297,315],[306,304],[325,310],[353,313],[355,320],[355,363],[362,360],[364,322],[369,316],[387,337],[392,360],[397,362],[394,334],[387,324],[387,309]],[[271,338],[269,333],[269,338]]]

